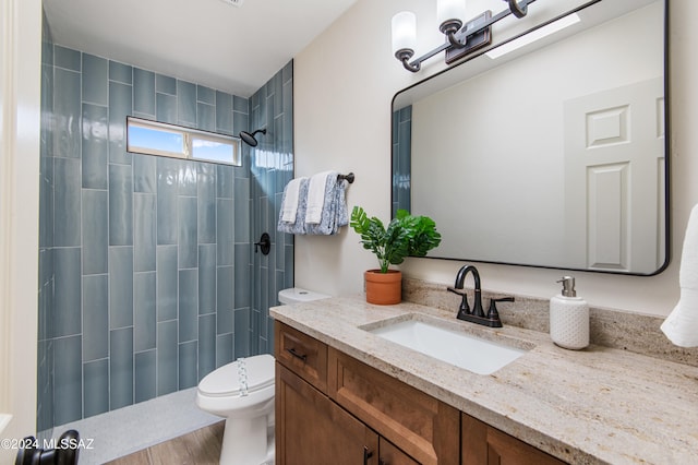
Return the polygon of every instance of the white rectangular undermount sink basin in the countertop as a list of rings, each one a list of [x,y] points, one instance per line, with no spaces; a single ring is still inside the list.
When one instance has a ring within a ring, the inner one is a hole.
[[[478,374],[494,373],[526,354],[524,349],[416,320],[368,331]]]

